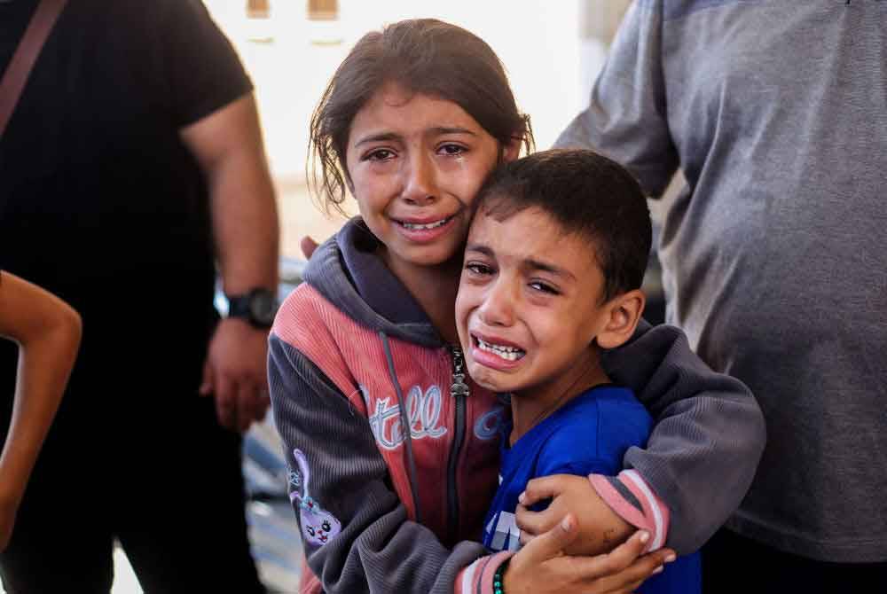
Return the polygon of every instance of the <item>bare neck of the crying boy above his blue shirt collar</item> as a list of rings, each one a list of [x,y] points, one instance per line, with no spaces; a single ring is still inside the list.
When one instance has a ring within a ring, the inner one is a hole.
[[[530,429],[573,398],[608,382],[607,374],[600,367],[598,348],[590,347],[589,356],[572,365],[560,378],[546,386],[515,392],[511,396],[511,418],[514,426],[508,437],[509,445],[514,445]]]

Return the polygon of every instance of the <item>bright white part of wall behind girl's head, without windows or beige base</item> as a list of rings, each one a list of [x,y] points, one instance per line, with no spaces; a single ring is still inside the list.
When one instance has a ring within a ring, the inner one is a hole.
[[[506,66],[518,106],[532,116],[538,147],[547,148],[585,102],[582,1],[341,0],[340,20],[330,25],[306,20],[302,0],[271,0],[271,20],[265,22],[247,20],[246,0],[204,0],[253,77],[271,168],[279,178],[303,176],[311,110],[349,48],[365,32],[408,18],[447,20],[490,43]],[[341,42],[329,43],[336,39]]]

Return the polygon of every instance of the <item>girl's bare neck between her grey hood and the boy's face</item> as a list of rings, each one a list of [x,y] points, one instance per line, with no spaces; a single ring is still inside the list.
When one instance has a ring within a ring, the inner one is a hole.
[[[419,302],[431,324],[443,340],[459,344],[456,332],[456,292],[459,290],[459,270],[462,267],[461,254],[436,266],[425,266],[389,258],[384,246],[380,255],[389,270],[404,284],[413,299]]]

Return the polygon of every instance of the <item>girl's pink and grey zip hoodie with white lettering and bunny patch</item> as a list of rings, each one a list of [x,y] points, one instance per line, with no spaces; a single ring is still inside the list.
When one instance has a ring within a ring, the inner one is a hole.
[[[508,553],[478,541],[504,407],[465,375],[377,246],[347,223],[271,331],[271,403],[310,567],[302,592],[491,592]],[[603,363],[656,426],[647,449],[626,453],[630,473],[593,484],[651,541],[667,533],[695,551],[750,485],[765,442],[757,403],[670,326],[644,324]]]

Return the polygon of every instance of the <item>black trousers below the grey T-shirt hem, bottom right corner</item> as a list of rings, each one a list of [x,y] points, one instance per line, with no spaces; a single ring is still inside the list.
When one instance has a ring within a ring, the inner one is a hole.
[[[874,589],[873,589],[874,588]],[[830,563],[722,528],[703,547],[704,594],[887,591],[887,563]]]

